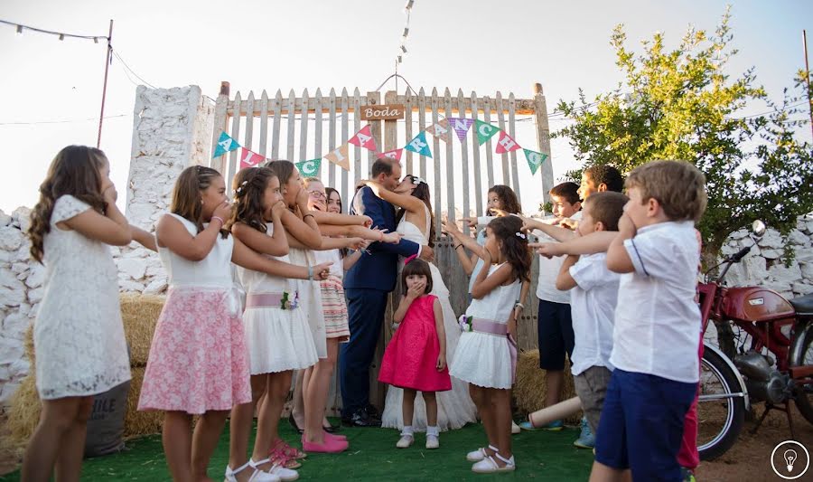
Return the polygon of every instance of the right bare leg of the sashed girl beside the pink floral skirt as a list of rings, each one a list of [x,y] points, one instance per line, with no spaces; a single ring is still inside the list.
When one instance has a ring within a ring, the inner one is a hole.
[[[268,389],[266,401],[260,406],[257,414],[257,438],[254,440],[254,451],[251,458],[255,462],[268,458],[272,444],[279,439],[279,417],[285,408],[285,398],[291,387],[291,377],[294,372],[287,370],[279,373],[268,373]],[[271,463],[261,465],[259,468],[267,470]]]

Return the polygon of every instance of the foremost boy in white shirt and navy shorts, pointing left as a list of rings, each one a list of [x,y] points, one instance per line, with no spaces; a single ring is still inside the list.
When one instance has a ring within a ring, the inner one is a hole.
[[[537,245],[545,256],[607,250],[607,267],[623,273],[592,481],[620,481],[627,469],[636,480],[680,480],[677,452],[699,382],[694,223],[706,210],[705,184],[687,162],[641,165],[626,180],[617,235]]]

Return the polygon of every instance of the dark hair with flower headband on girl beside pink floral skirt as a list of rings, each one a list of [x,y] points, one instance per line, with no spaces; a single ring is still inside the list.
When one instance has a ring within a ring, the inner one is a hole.
[[[267,232],[266,220],[263,218],[263,198],[266,187],[272,177],[276,177],[269,167],[247,167],[240,169],[234,176],[234,211],[232,211],[226,229],[237,222],[244,222],[258,232]]]

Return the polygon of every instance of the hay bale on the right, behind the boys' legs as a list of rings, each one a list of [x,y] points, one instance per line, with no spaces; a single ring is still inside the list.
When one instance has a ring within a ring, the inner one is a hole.
[[[539,368],[539,350],[528,350],[519,354],[517,360],[517,383],[514,383],[514,399],[521,411],[531,412],[545,408],[547,386],[545,370]],[[573,375],[565,370],[565,383],[559,400],[575,397]],[[565,419],[565,423],[575,424],[582,418],[582,412]]]

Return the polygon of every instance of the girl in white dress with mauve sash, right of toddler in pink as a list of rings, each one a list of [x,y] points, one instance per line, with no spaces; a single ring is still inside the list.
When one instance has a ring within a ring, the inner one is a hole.
[[[474,472],[513,470],[511,451],[511,383],[516,366],[516,320],[511,316],[523,281],[528,281],[531,254],[520,232],[522,220],[505,216],[489,222],[481,269],[472,288],[472,304],[461,317],[463,335],[450,373],[470,383],[489,446],[467,455]],[[475,248],[471,238],[463,240]],[[469,246],[467,245],[467,248]],[[496,262],[492,266],[492,260]],[[514,323],[509,323],[513,320]]]

